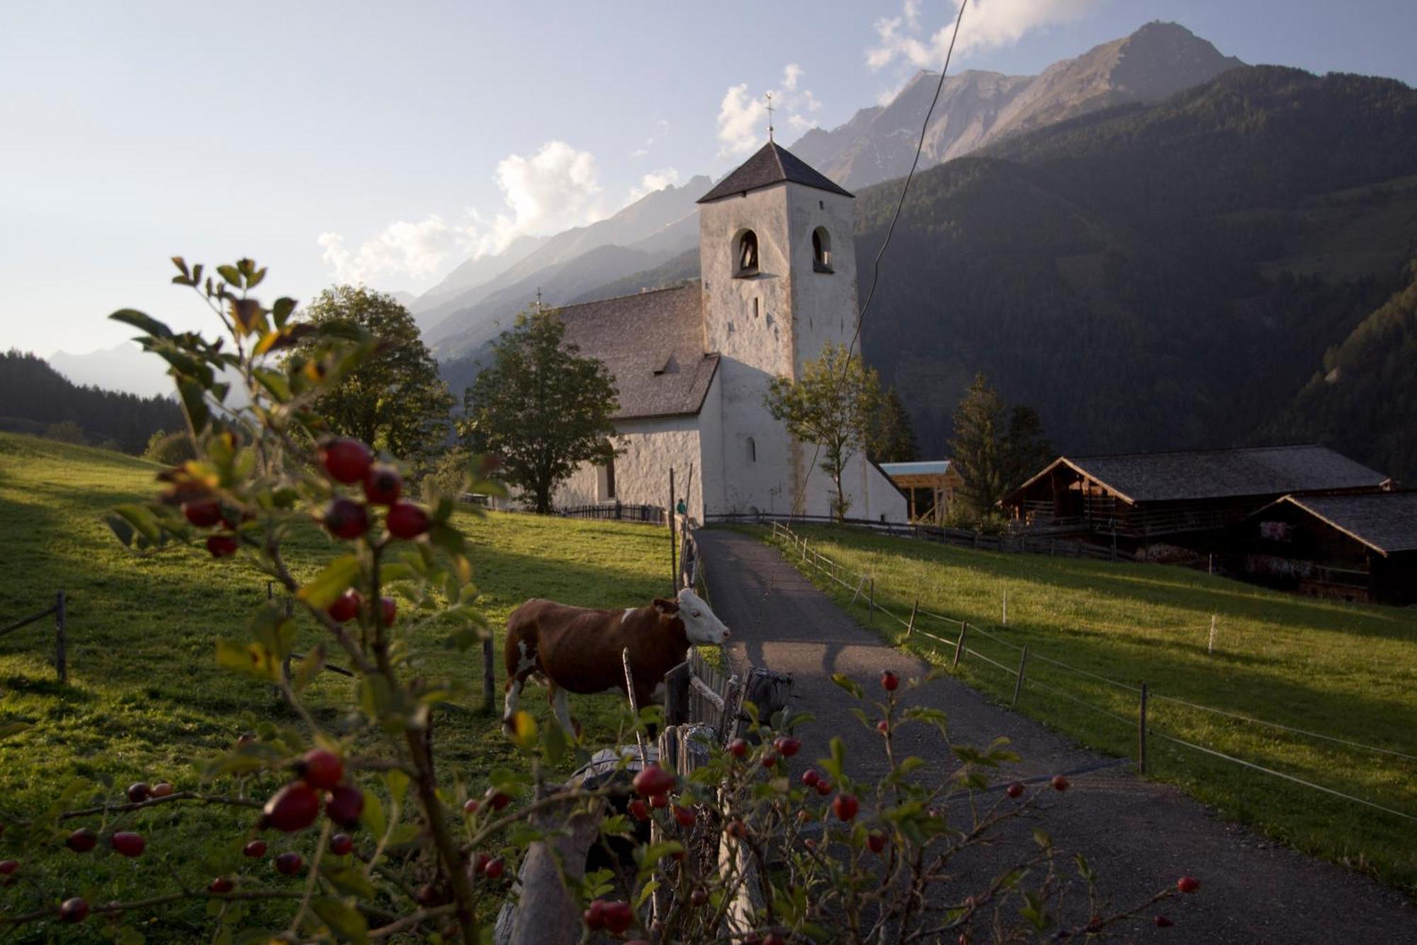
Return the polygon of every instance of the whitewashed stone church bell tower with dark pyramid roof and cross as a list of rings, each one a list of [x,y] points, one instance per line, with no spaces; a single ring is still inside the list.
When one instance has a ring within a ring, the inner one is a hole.
[[[704,458],[716,511],[828,514],[829,478],[806,475],[812,444],[788,437],[764,397],[774,377],[799,379],[826,342],[856,331],[852,200],[772,140],[699,200],[704,350],[721,356],[721,430],[704,430],[721,436],[721,468],[708,444]]]

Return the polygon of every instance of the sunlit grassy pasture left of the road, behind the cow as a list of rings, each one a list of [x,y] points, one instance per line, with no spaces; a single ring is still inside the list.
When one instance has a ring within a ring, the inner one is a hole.
[[[75,776],[119,788],[162,779],[197,788],[204,761],[242,731],[262,721],[296,722],[269,687],[218,670],[214,661],[218,636],[244,636],[251,609],[266,593],[264,578],[239,562],[214,562],[200,549],[135,556],[102,522],[113,505],[152,495],[156,472],[156,465],[115,453],[0,434],[0,626],[43,610],[60,589],[69,602],[68,687],[55,681],[50,661],[51,620],[0,639],[0,724],[31,724],[0,745],[0,823],[43,810]],[[502,627],[523,600],[625,607],[669,590],[669,542],[660,529],[509,514],[459,514],[455,524],[470,539],[475,583],[497,637],[499,714]],[[332,553],[313,529],[290,546],[302,576]],[[476,708],[480,648],[446,650],[442,636],[429,631],[418,646],[436,673],[470,687],[458,702]],[[317,639],[312,624],[300,646]],[[330,661],[339,663],[337,654]],[[327,673],[312,687],[309,704],[322,722],[337,725],[350,692],[349,680]],[[609,695],[572,697],[571,712],[585,725],[588,744],[614,738],[621,704]],[[550,718],[540,690],[533,688],[523,707],[543,724]],[[486,772],[514,753],[496,717],[439,712],[435,731],[439,778],[449,786],[461,779],[480,789]],[[0,890],[0,912],[34,905],[34,881],[54,892],[82,890],[91,902],[170,890],[169,868],[188,875],[193,860],[205,857],[213,870],[230,863],[231,843],[239,847],[245,836],[213,829],[224,820],[190,807],[145,812],[136,829],[149,833],[152,844],[142,860],[79,860],[60,850],[50,861],[26,864],[24,883]],[[211,849],[218,834],[231,843]],[[268,863],[261,867],[261,878],[271,875]],[[200,905],[194,908],[164,917],[153,941],[188,941],[201,917]],[[31,928],[31,935],[44,941],[43,929]]]

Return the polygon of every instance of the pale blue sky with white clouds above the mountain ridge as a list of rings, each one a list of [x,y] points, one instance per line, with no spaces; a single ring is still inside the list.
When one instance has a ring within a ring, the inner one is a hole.
[[[266,291],[421,292],[520,234],[714,177],[939,68],[959,0],[0,3],[0,348],[211,328],[174,254]],[[1172,20],[1247,62],[1417,84],[1413,0],[969,0],[951,72]]]

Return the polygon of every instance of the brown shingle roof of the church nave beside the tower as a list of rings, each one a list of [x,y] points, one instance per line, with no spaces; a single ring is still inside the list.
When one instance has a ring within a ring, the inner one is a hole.
[[[616,420],[696,414],[718,368],[703,348],[699,282],[560,309],[565,341],[615,375]]]

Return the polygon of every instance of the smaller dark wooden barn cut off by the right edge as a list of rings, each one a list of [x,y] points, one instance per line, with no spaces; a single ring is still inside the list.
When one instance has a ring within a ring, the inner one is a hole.
[[[1241,573],[1258,583],[1417,603],[1417,492],[1285,495],[1237,525],[1233,545]]]

